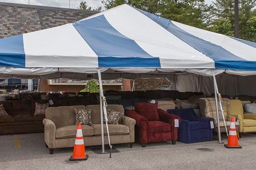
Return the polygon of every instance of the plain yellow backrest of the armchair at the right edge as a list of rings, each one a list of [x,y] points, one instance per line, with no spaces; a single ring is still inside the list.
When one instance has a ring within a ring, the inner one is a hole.
[[[244,119],[244,109],[241,100],[232,99],[227,109],[228,115],[240,115]]]

